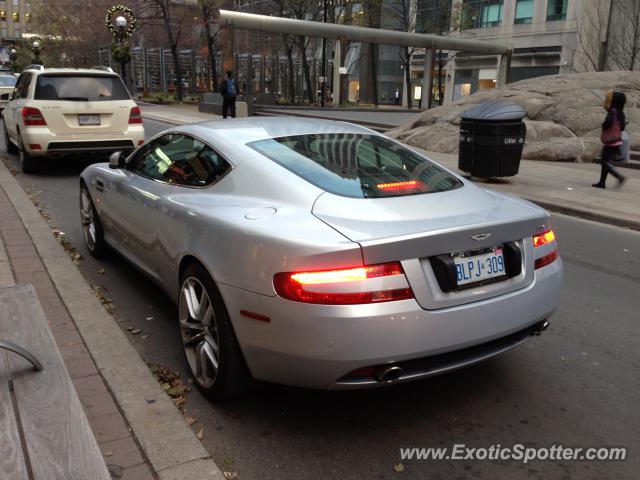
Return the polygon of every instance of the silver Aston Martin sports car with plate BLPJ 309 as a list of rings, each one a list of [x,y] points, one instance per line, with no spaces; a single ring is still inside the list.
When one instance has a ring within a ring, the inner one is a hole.
[[[343,122],[172,128],[88,167],[80,210],[178,304],[212,398],[460,368],[542,332],[563,283],[545,210]]]

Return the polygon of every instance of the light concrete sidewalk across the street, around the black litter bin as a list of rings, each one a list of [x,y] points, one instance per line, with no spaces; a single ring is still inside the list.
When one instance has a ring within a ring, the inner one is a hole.
[[[179,106],[145,106],[142,114],[145,118],[174,125],[202,121],[203,116],[208,120],[220,118]],[[355,118],[353,121],[358,122]],[[458,139],[452,141],[457,142]],[[463,173],[457,168],[457,155],[422,152],[450,170]],[[598,164],[523,160],[520,172],[514,177],[476,182],[487,188],[519,195],[554,212],[640,230],[640,170],[621,169],[621,173],[627,177],[622,188],[615,188],[618,182],[609,176],[608,188],[602,190],[591,186],[600,178]]]

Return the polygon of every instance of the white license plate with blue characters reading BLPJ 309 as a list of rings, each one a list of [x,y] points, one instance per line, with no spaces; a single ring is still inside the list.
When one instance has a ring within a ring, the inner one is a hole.
[[[502,245],[456,253],[453,255],[453,262],[458,287],[489,283],[507,275]]]

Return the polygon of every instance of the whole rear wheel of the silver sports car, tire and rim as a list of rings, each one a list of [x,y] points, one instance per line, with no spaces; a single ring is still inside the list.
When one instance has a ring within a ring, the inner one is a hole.
[[[178,320],[187,363],[203,394],[228,400],[246,392],[251,374],[222,296],[200,264],[189,266],[180,279]]]

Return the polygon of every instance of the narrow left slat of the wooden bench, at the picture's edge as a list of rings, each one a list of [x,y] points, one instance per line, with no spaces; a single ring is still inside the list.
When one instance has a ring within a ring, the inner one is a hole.
[[[18,423],[9,391],[9,366],[7,353],[0,350],[0,478],[3,480],[28,480],[24,463]]]

